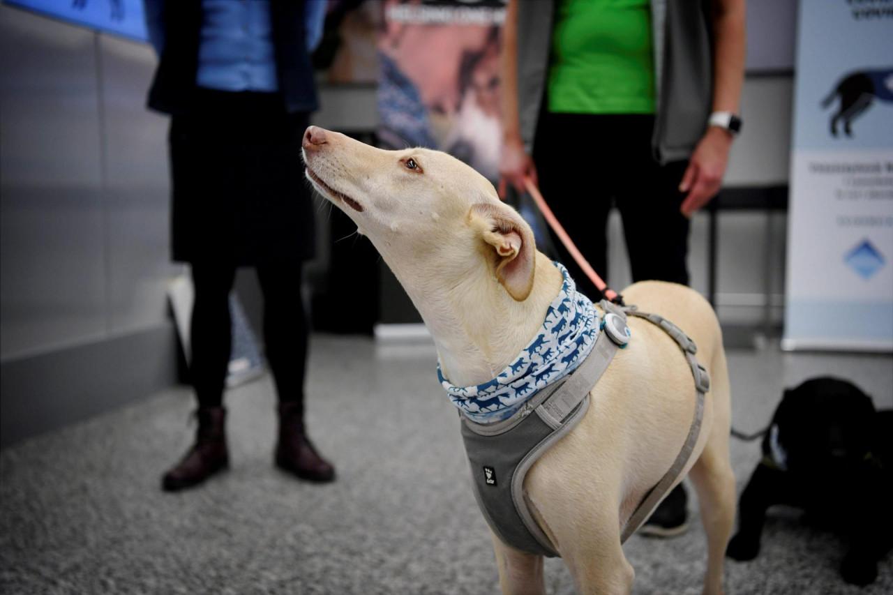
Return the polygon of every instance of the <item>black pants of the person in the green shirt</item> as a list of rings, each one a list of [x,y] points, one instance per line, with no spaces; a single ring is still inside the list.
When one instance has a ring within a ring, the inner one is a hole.
[[[660,165],[651,152],[654,116],[543,113],[534,146],[539,186],[589,264],[608,281],[607,218],[620,210],[633,281],[687,285],[689,220],[679,191],[687,162]],[[577,287],[601,297],[552,236]],[[613,288],[620,290],[622,288]]]

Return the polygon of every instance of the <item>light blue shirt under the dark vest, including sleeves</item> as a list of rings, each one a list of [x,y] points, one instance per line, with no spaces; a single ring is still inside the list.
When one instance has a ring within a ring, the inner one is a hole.
[[[171,0],[181,2],[182,0]],[[159,55],[165,0],[145,0],[149,39]],[[276,91],[270,0],[202,0],[204,20],[198,48],[199,87],[223,91]],[[305,39],[312,52],[322,38],[326,0],[306,0]]]

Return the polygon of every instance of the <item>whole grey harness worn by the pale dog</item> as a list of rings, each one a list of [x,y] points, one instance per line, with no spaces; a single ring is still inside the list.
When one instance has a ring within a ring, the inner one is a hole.
[[[552,542],[530,514],[523,494],[524,477],[538,458],[571,432],[586,414],[589,391],[605,373],[617,349],[625,346],[622,333],[617,332],[621,330],[617,328],[617,321],[626,330],[627,316],[638,316],[669,334],[689,362],[697,391],[695,414],[685,444],[667,473],[647,492],[626,522],[621,542],[645,522],[647,515],[679,477],[697,443],[710,378],[704,366],[697,363],[695,342],[658,314],[638,312],[635,306],[621,308],[605,300],[600,306],[607,313],[605,323],[613,319],[613,329],[607,328],[598,334],[592,351],[572,374],[540,390],[504,421],[482,424],[462,415],[462,437],[472,466],[475,499],[493,532],[514,549],[547,557],[558,556]]]

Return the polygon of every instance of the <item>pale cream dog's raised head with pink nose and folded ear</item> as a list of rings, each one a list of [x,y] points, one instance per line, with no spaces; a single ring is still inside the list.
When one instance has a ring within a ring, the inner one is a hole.
[[[356,223],[405,287],[425,282],[426,271],[458,287],[483,269],[513,299],[530,295],[530,226],[468,165],[429,149],[370,147],[317,126],[305,131],[303,148],[307,179]]]

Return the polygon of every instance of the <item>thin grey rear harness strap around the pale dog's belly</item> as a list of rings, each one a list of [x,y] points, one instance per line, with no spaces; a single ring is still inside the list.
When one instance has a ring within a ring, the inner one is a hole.
[[[701,422],[704,419],[705,393],[707,390],[710,390],[710,376],[707,374],[705,367],[700,365],[695,358],[695,354],[697,353],[695,341],[682,332],[678,326],[663,318],[663,316],[658,314],[643,314],[632,309],[628,309],[627,313],[633,316],[638,316],[639,318],[645,318],[650,323],[656,324],[679,344],[682,352],[685,354],[686,361],[689,362],[692,376],[694,376],[695,391],[697,395],[695,415],[691,420],[689,435],[686,437],[679,455],[677,455],[676,460],[673,461],[670,469],[664,473],[661,480],[657,482],[654,488],[648,490],[638,507],[636,507],[636,510],[633,511],[630,520],[626,522],[626,526],[623,528],[621,543],[629,539],[630,535],[636,532],[641,524],[645,523],[648,515],[651,514],[657,504],[663,499],[663,496],[670,490],[673,482],[679,478],[682,469],[684,469],[685,465],[689,462],[689,457],[691,457],[691,453],[694,451],[695,445],[697,444],[697,438],[701,433]]]

